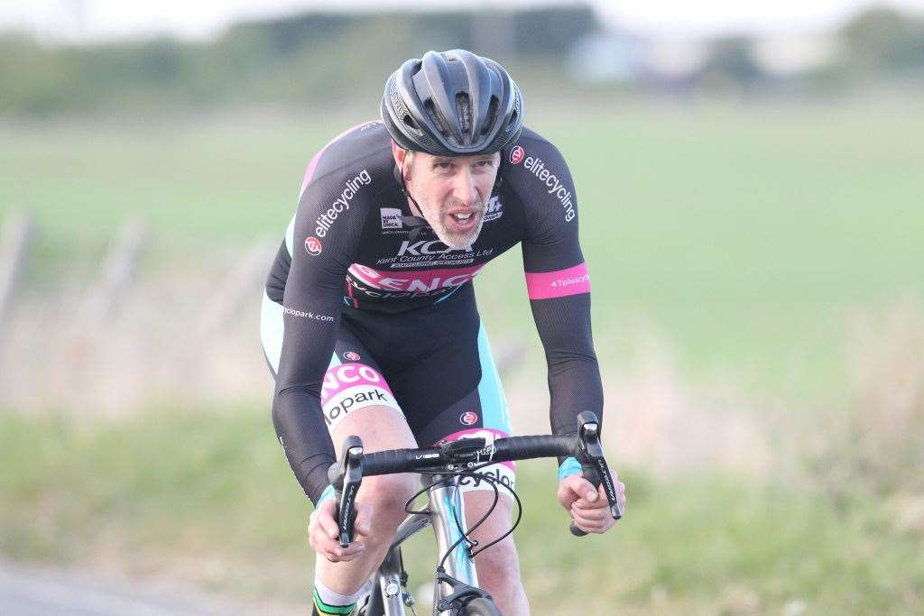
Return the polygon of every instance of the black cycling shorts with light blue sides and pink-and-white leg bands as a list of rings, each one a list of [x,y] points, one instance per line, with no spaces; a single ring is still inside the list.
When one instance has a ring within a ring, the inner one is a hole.
[[[283,308],[264,296],[261,316],[263,350],[275,376]],[[321,402],[328,429],[370,406],[391,406],[403,413],[420,447],[512,435],[504,389],[470,286],[451,301],[396,314],[346,308]],[[515,465],[505,462],[482,472],[513,488],[514,471]],[[492,488],[469,481],[463,489]]]

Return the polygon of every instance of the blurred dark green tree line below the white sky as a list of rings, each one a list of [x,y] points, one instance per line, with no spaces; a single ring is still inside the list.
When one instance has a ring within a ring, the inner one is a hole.
[[[506,12],[305,13],[242,22],[209,42],[45,45],[0,33],[0,115],[129,110],[140,114],[234,105],[339,106],[377,96],[407,57],[465,47],[508,66],[518,79],[566,71],[575,42],[603,31],[588,6]],[[912,76],[924,81],[924,18],[866,10],[838,32],[843,53],[824,77]],[[747,38],[712,42],[711,74],[742,84],[766,76]],[[545,82],[547,89],[561,83]],[[587,85],[581,87],[590,87]],[[598,84],[597,88],[607,87]]]

